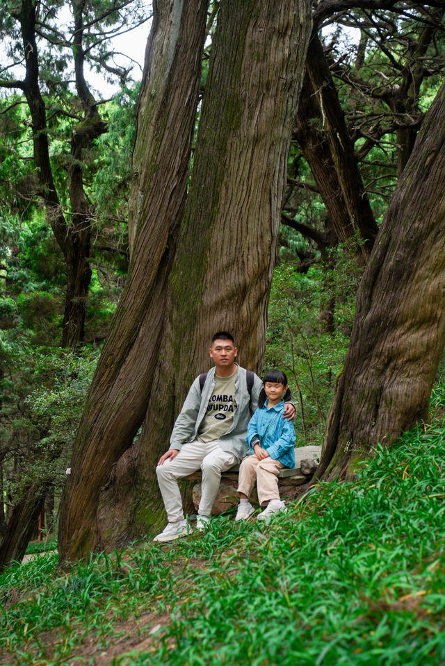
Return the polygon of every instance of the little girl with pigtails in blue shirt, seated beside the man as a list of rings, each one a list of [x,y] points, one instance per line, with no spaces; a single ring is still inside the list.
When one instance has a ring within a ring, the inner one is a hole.
[[[255,481],[259,505],[267,505],[259,519],[267,523],[273,513],[285,508],[278,491],[278,472],[284,467],[295,467],[295,431],[292,423],[283,419],[284,399],[289,401],[290,396],[284,372],[270,370],[264,377],[258,409],[248,424],[245,441],[254,455],[244,458],[239,469],[240,503],[235,520],[246,519],[254,512],[249,497]]]

